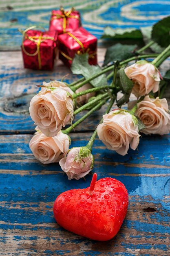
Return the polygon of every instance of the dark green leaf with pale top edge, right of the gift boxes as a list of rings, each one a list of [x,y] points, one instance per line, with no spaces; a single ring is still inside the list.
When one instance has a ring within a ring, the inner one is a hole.
[[[142,34],[139,29],[113,29],[105,27],[102,38],[142,39]]]

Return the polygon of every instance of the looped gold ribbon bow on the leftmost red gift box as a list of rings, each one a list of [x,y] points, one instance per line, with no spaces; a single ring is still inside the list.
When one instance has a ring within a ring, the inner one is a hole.
[[[23,52],[24,52],[26,55],[28,55],[28,56],[35,56],[35,55],[38,55],[38,67],[39,67],[39,70],[41,70],[42,65],[41,65],[41,55],[40,55],[40,44],[41,44],[44,40],[46,40],[46,39],[55,41],[55,38],[53,38],[53,37],[51,37],[51,36],[42,36],[42,32],[41,32],[40,36],[28,36],[28,35],[26,34],[27,31],[29,31],[30,29],[35,29],[36,27],[38,27],[38,26],[32,26],[32,27],[29,27],[29,28],[27,28],[27,29],[25,29],[25,30],[22,30],[22,29],[18,29],[18,30],[19,30],[19,31],[22,33],[22,35],[23,35],[23,38],[22,38],[22,49],[23,49]],[[44,29],[44,28],[42,28],[42,27],[38,27],[38,28]],[[45,29],[44,29],[44,30],[45,30]],[[30,41],[33,41],[33,42],[36,44],[37,49],[36,49],[36,51],[35,51],[34,53],[31,54],[31,53],[29,53],[29,52],[26,52],[26,49],[25,49],[25,47],[24,47],[24,40],[25,40],[25,39],[29,39]]]

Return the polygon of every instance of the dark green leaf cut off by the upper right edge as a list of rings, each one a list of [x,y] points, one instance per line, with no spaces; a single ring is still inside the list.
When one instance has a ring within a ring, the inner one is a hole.
[[[153,25],[152,40],[157,42],[161,47],[170,45],[170,16]]]

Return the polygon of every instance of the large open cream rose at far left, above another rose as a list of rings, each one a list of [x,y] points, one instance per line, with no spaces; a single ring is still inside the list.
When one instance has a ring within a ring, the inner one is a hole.
[[[30,102],[30,116],[47,136],[54,137],[73,117],[71,94],[60,88],[46,88]]]

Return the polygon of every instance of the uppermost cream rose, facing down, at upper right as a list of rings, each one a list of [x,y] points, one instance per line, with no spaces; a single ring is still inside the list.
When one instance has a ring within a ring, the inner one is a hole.
[[[152,63],[137,61],[137,63],[126,67],[124,71],[126,76],[134,82],[132,93],[136,97],[159,90],[160,75]]]

